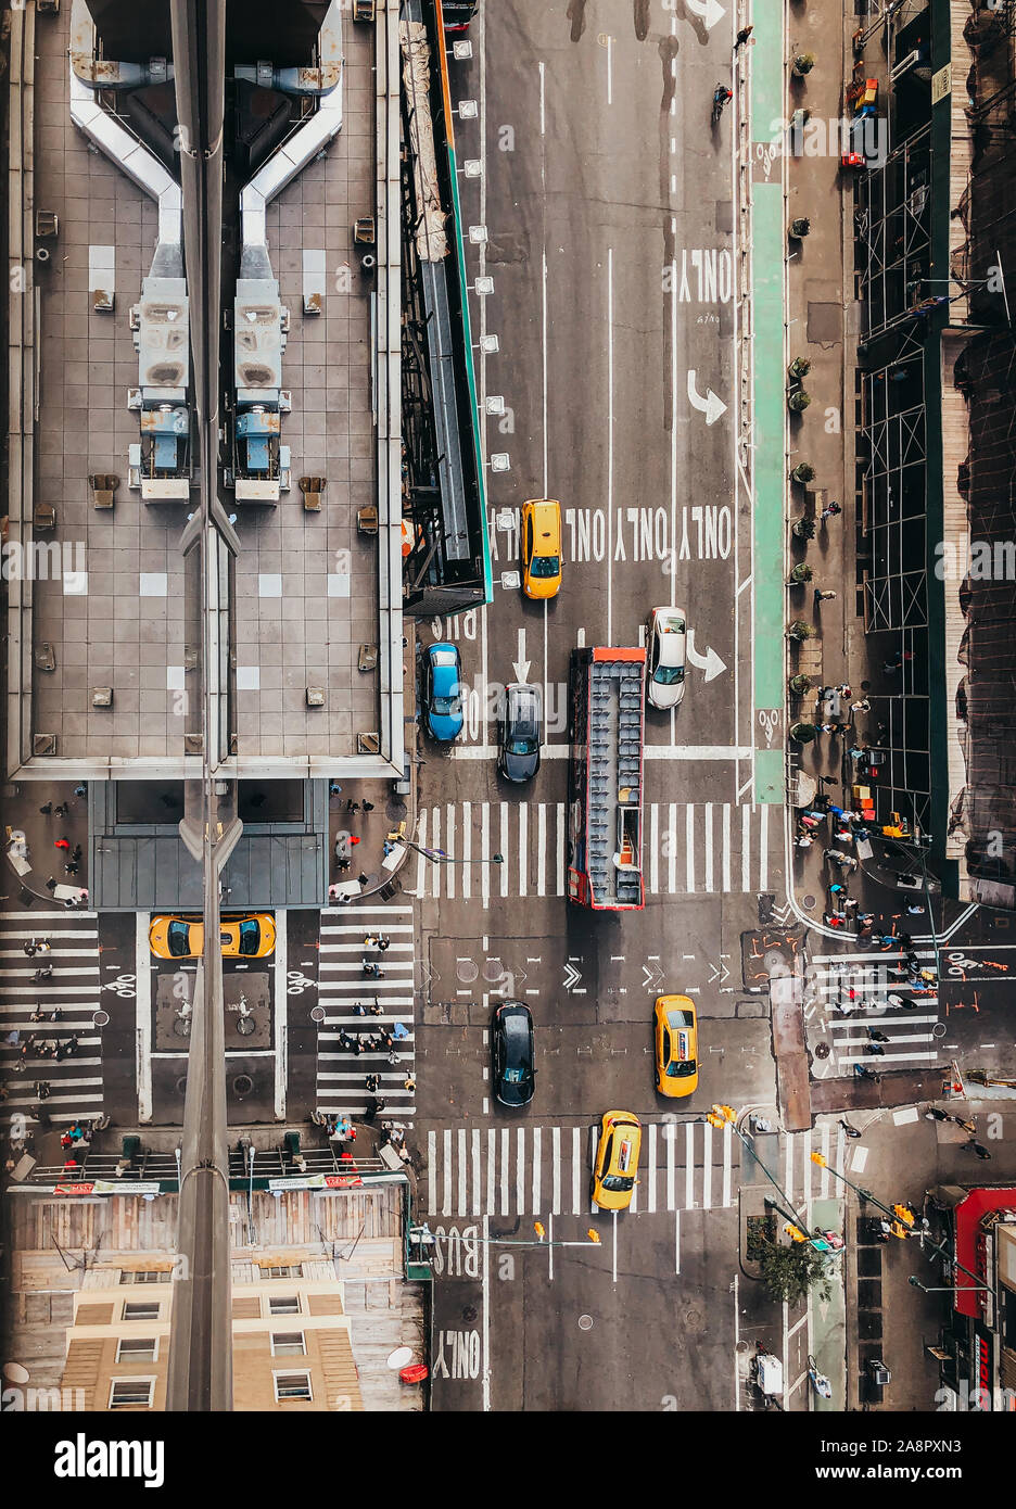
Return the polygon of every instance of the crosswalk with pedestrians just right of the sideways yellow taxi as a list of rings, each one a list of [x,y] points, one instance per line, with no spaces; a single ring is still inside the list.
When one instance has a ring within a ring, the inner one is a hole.
[[[377,933],[389,939],[383,954],[364,949],[364,939]],[[364,978],[364,957],[380,964],[383,979]],[[317,1032],[319,1111],[362,1114],[373,1099],[367,1076],[377,1074],[376,1096],[385,1102],[385,1117],[412,1117],[415,1091],[406,1089],[406,1080],[415,1079],[414,963],[412,907],[358,905],[355,922],[346,907],[322,911],[317,1003],[325,1020]],[[358,1016],[353,1011],[358,1002],[376,1002],[382,1011]],[[397,1064],[388,1062],[388,1050],[353,1053],[341,1046],[340,1032],[376,1037],[397,1022],[408,1031],[408,1037],[396,1041]]]

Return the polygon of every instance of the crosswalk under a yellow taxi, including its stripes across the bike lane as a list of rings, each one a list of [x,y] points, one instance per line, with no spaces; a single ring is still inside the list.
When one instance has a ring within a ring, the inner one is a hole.
[[[518,1127],[445,1127],[427,1132],[429,1216],[595,1213],[590,1176],[598,1127],[583,1123]],[[835,1171],[850,1144],[839,1124],[758,1138],[759,1157],[788,1200],[836,1195]],[[812,1163],[821,1153],[824,1168]],[[642,1127],[639,1182],[630,1212],[717,1210],[737,1201],[741,1183],[762,1183],[750,1153],[729,1127],[704,1121],[649,1121]]]

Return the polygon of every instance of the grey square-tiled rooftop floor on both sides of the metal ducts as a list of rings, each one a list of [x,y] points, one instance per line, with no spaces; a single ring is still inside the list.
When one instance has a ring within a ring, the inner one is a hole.
[[[35,638],[56,652],[53,673],[35,672],[33,729],[56,732],[63,758],[177,756],[187,625],[178,539],[186,509],[148,506],[127,489],[127,447],[137,420],[127,388],[137,382],[128,309],[155,247],[157,207],[100,154],[69,119],[69,15],[39,30],[36,204],[56,210],[59,238],[42,273],[42,401],[36,496],[57,509],[56,540],[86,563],[71,592],[63,579],[35,584]],[[328,157],[311,163],[269,207],[269,244],[291,312],[282,365],[293,412],[293,489],[275,509],[239,507],[243,552],[236,578],[237,664],[261,672],[237,694],[240,751],[355,751],[377,726],[377,678],[356,668],[359,643],[377,637],[376,540],[356,536],[355,512],[376,496],[370,413],[370,282],[353,252],[352,225],[373,210],[373,41],[346,44],[344,125]],[[115,311],[89,300],[89,247],[115,246]],[[325,312],[302,314],[302,250],[326,254]],[[88,475],[119,475],[116,507],[91,506]],[[303,474],[328,477],[320,515],[305,513]],[[226,499],[229,501],[229,499]],[[77,557],[74,557],[77,560]],[[258,578],[281,578],[281,596]],[[329,575],[346,589],[329,592]],[[166,578],[166,592],[152,581]],[[143,585],[142,585],[143,584]],[[353,616],[356,632],[353,632]],[[190,632],[189,632],[190,629]],[[276,672],[275,676],[264,672]],[[92,708],[94,687],[113,687],[110,709]],[[306,688],[326,691],[306,708]]]

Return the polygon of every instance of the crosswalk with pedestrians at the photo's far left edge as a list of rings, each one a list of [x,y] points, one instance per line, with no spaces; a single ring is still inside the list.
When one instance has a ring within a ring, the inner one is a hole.
[[[50,952],[26,955],[30,939],[47,939]],[[42,964],[53,966],[53,976],[35,981]],[[32,1022],[36,1008],[44,1020]],[[60,1011],[59,1022],[50,1014]],[[79,1117],[100,1115],[103,1111],[101,1035],[94,1025],[100,1010],[98,916],[95,911],[3,911],[0,913],[0,1079],[8,1096],[0,1106],[0,1123],[9,1124],[23,1115],[35,1124],[32,1108],[39,1103],[38,1080],[50,1085],[45,1109],[54,1124]],[[21,1058],[21,1046],[33,1034],[44,1038],[68,1038],[79,1032],[79,1049],[72,1058],[56,1061],[29,1055]],[[17,1037],[15,1037],[17,1035]],[[24,1062],[24,1070],[15,1065]]]

